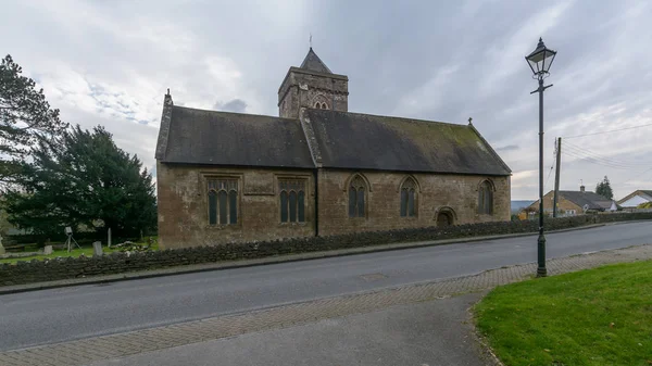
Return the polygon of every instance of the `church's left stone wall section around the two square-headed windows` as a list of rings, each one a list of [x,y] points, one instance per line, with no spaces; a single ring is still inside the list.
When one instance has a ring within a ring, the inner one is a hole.
[[[209,225],[208,179],[238,180],[238,224]],[[305,223],[280,223],[278,178],[306,180]],[[314,236],[312,171],[156,164],[162,249]]]

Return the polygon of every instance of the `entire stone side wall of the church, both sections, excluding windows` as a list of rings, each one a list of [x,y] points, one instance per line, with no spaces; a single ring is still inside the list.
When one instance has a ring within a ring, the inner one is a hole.
[[[315,236],[314,173],[311,169],[191,167],[158,164],[159,243],[162,249]],[[348,184],[354,173],[318,171],[318,232],[331,236],[436,226],[448,211],[453,224],[510,219],[510,177],[363,172],[368,184],[366,217],[349,217]],[[238,224],[209,225],[208,180],[238,181]],[[280,223],[278,179],[306,181],[305,223]],[[400,216],[401,182],[417,184],[415,217]],[[494,186],[493,214],[477,213],[478,186]]]

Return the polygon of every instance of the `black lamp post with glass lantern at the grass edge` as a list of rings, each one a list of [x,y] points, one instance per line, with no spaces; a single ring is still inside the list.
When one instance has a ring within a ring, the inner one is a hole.
[[[546,277],[548,270],[546,269],[546,237],[543,236],[543,90],[552,87],[543,86],[543,79],[547,78],[550,73],[550,65],[556,55],[556,51],[548,49],[543,45],[543,39],[539,38],[539,45],[532,53],[528,54],[525,60],[532,70],[532,78],[539,80],[539,88],[530,92],[539,93],[539,239],[537,240],[537,277]]]

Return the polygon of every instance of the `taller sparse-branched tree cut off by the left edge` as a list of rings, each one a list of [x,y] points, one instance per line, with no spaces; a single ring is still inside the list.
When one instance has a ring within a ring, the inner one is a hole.
[[[23,70],[7,55],[0,62],[0,184],[13,182],[21,162],[40,139],[62,134],[67,124],[46,101],[43,90],[22,76]]]

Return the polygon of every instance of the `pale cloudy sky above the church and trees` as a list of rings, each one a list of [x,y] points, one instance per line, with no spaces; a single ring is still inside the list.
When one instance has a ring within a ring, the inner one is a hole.
[[[2,5],[0,52],[64,121],[103,125],[155,175],[167,88],[176,105],[277,115],[278,87],[312,35],[349,76],[351,112],[473,117],[513,171],[512,199],[536,200],[539,100],[524,56],[543,37],[559,52],[544,190],[562,137],[561,189],[594,190],[606,175],[619,199],[652,189],[651,16],[649,1],[617,0],[23,0]]]

